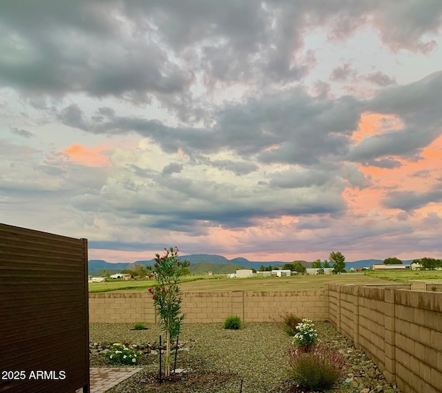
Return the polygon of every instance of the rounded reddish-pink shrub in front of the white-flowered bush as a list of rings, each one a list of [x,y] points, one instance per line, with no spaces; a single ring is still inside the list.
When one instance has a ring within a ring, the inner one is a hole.
[[[289,349],[289,365],[294,381],[309,391],[331,389],[342,374],[344,357],[338,351],[317,345],[308,352],[300,347]]]

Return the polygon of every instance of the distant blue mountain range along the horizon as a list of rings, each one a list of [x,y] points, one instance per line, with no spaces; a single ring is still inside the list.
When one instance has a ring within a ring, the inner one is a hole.
[[[235,273],[238,268],[255,268],[257,271],[260,266],[284,266],[285,264],[301,262],[304,266],[309,267],[311,262],[306,261],[294,261],[294,262],[282,262],[282,261],[272,261],[272,262],[257,262],[249,261],[246,258],[238,257],[233,259],[227,259],[222,255],[209,255],[209,254],[194,254],[194,255],[183,255],[180,259],[186,259],[191,262],[191,273],[198,274],[204,273],[206,271],[213,271],[214,274],[220,273]],[[411,261],[403,261],[404,263]],[[93,275],[100,275],[103,269],[106,273],[119,273],[124,269],[135,268],[135,265],[152,265],[155,263],[154,259],[148,261],[136,261],[136,262],[116,262],[110,263],[102,259],[90,259],[88,264],[88,272]],[[361,259],[354,262],[346,262],[347,270],[349,268],[362,268],[365,266],[372,266],[373,264],[382,264],[381,259]]]

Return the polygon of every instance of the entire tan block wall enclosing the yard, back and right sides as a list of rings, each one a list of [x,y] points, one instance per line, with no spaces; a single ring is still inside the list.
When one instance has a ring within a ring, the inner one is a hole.
[[[186,323],[329,320],[403,393],[442,392],[442,293],[427,284],[337,285],[321,291],[186,292]],[[157,322],[146,291],[89,293],[90,322]]]

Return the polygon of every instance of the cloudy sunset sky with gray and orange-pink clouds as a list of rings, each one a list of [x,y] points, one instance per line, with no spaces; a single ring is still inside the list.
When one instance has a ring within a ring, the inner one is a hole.
[[[1,222],[250,260],[442,257],[442,1],[0,2]]]

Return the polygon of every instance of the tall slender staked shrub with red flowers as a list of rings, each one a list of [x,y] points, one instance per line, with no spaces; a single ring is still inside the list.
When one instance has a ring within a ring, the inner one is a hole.
[[[185,315],[181,313],[181,275],[184,269],[189,266],[188,261],[178,259],[178,248],[164,248],[164,255],[160,257],[155,255],[155,264],[146,266],[151,271],[157,286],[149,288],[152,295],[153,304],[160,317],[160,324],[164,333],[166,333],[166,359],[164,376],[171,375],[171,342],[180,333],[180,326]]]

